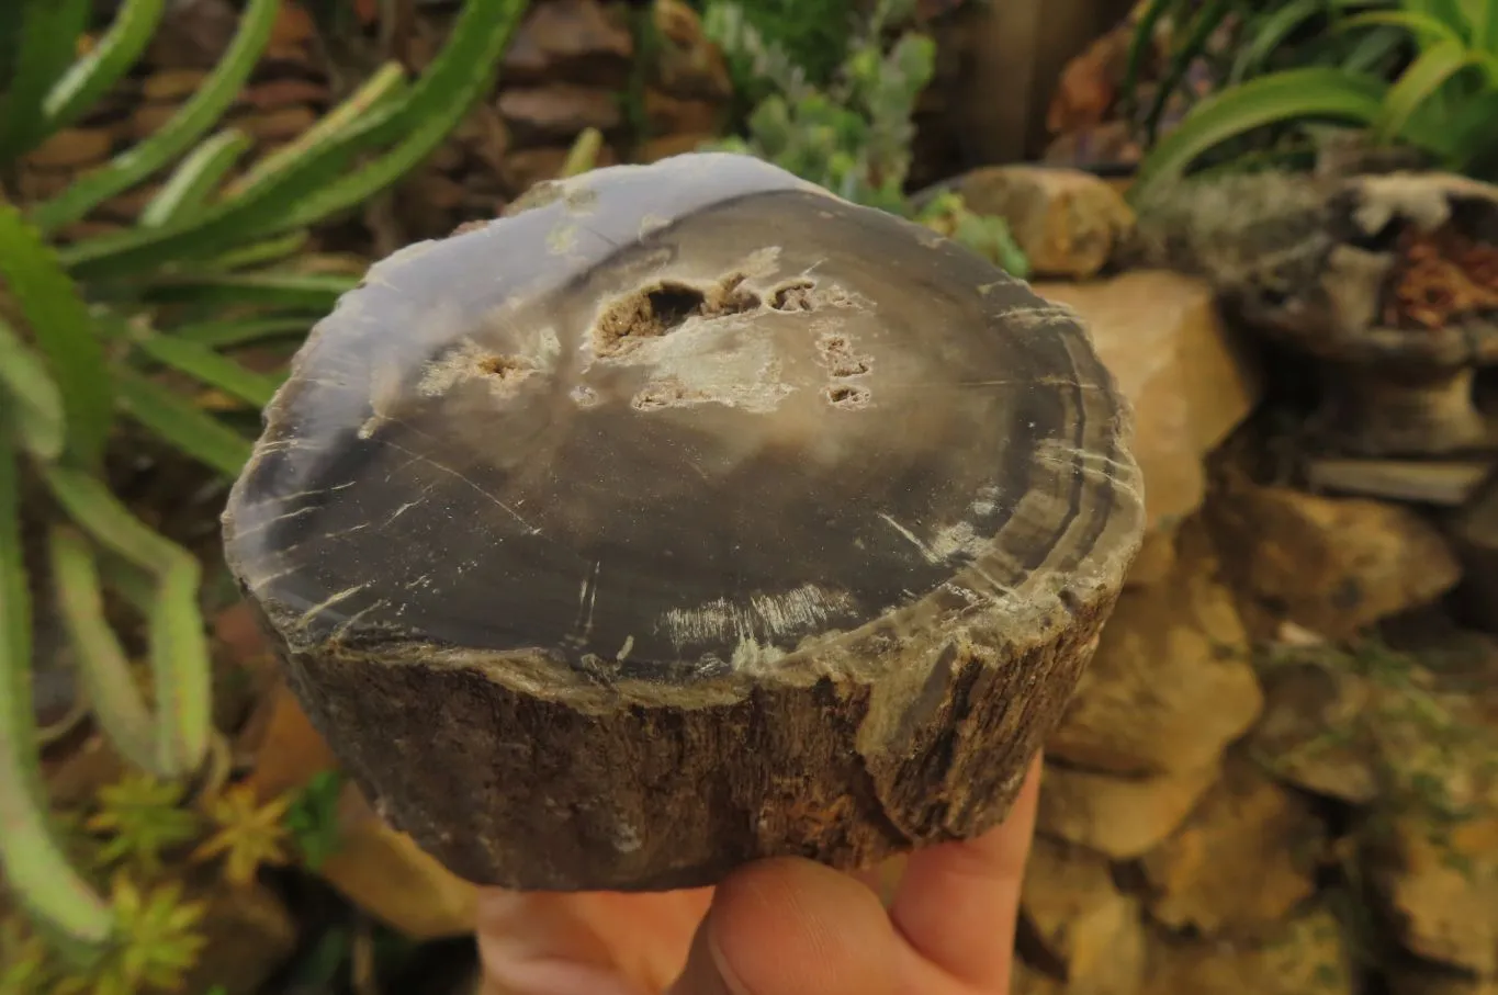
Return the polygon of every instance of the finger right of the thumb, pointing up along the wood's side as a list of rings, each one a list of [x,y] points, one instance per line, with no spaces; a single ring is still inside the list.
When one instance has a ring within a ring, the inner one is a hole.
[[[1037,755],[1002,826],[975,839],[909,856],[890,919],[920,955],[902,970],[929,979],[908,980],[911,991],[939,991],[939,982],[930,979],[936,970],[969,991],[1008,992],[1020,884],[1035,833],[1040,769]]]

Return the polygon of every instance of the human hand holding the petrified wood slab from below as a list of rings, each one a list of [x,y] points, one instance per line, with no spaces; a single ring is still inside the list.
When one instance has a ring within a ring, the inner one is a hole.
[[[479,898],[482,995],[1008,995],[1040,757],[1010,818],[873,874],[762,860],[716,889]],[[683,968],[685,965],[685,968]]]

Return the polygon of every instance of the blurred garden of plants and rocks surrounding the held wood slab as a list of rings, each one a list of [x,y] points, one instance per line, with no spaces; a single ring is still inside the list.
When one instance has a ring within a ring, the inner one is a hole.
[[[0,995],[467,995],[219,512],[372,261],[701,148],[1083,315],[1149,533],[1017,995],[1498,994],[1498,0],[6,0]]]

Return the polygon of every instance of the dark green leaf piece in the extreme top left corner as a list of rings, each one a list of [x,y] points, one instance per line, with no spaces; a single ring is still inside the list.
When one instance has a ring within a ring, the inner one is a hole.
[[[46,139],[43,102],[78,51],[88,27],[88,0],[4,0],[24,10],[15,76],[4,87],[0,114],[0,166],[13,163]]]

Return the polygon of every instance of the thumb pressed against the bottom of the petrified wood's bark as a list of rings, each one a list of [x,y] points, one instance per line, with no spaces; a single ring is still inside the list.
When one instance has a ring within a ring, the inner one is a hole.
[[[670,995],[894,995],[879,898],[810,860],[742,868],[713,895]]]

